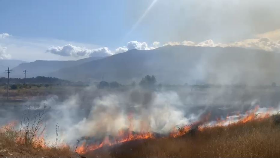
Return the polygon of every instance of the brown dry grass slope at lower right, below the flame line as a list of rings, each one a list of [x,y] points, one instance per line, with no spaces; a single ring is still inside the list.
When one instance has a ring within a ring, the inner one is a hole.
[[[279,116],[278,116],[279,117]],[[277,117],[276,117],[277,118]],[[207,127],[179,138],[126,142],[86,157],[280,157],[280,124],[275,117]]]

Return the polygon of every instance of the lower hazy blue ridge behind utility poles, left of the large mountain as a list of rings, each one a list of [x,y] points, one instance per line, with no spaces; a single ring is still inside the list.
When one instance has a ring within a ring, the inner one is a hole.
[[[36,60],[30,63],[21,63],[17,67],[13,68],[11,73],[12,78],[22,78],[23,71],[26,70],[27,77],[36,76],[48,76],[50,72],[57,71],[62,68],[77,66],[82,63],[86,63],[93,60],[101,59],[102,57],[88,57],[80,60],[68,60],[68,61],[54,61],[54,60]]]

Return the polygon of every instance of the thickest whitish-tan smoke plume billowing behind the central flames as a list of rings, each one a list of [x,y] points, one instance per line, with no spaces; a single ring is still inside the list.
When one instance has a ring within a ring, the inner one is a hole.
[[[86,91],[92,92],[92,89]],[[175,125],[189,124],[190,119],[195,119],[195,116],[185,117],[184,111],[180,110],[183,104],[173,91],[152,92],[136,88],[126,92],[106,93],[90,101],[89,114],[77,123],[69,122],[73,118],[70,118],[71,112],[65,109],[61,117],[63,120],[59,121],[66,122],[59,124],[72,125],[64,128],[64,141],[74,142],[83,137],[102,139],[105,136],[117,136],[120,130],[126,129],[134,132],[169,133]],[[85,96],[70,97],[57,107],[60,107],[60,111],[64,111],[63,107],[81,110],[82,105],[78,105],[81,97]],[[56,120],[56,116],[57,114],[52,115],[52,119]]]

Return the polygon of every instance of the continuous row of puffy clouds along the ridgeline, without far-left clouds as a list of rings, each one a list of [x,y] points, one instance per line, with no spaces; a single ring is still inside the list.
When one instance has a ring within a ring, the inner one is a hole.
[[[126,46],[118,47],[115,51],[109,50],[108,47],[102,47],[97,49],[87,49],[77,47],[71,44],[64,45],[62,47],[51,46],[47,49],[46,52],[57,54],[60,56],[72,56],[72,57],[93,57],[93,56],[110,56],[113,54],[123,53],[132,49],[138,50],[151,50],[161,46],[167,45],[187,45],[187,46],[196,46],[196,47],[242,47],[242,48],[254,48],[254,49],[262,49],[265,51],[279,51],[280,50],[280,40],[273,41],[269,38],[258,38],[258,39],[245,39],[239,42],[233,43],[215,43],[212,39],[208,39],[202,42],[193,42],[189,40],[184,40],[182,42],[178,41],[169,41],[160,45],[160,42],[153,42],[152,46],[149,47],[147,42],[138,42],[138,41],[130,41],[127,42]]]

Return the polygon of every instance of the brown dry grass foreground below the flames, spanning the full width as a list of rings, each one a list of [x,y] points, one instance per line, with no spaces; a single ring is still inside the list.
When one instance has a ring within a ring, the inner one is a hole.
[[[205,127],[178,138],[157,138],[104,146],[83,157],[279,157],[280,116],[227,127]],[[79,157],[67,145],[44,147],[21,144],[17,131],[0,131],[1,157]]]

